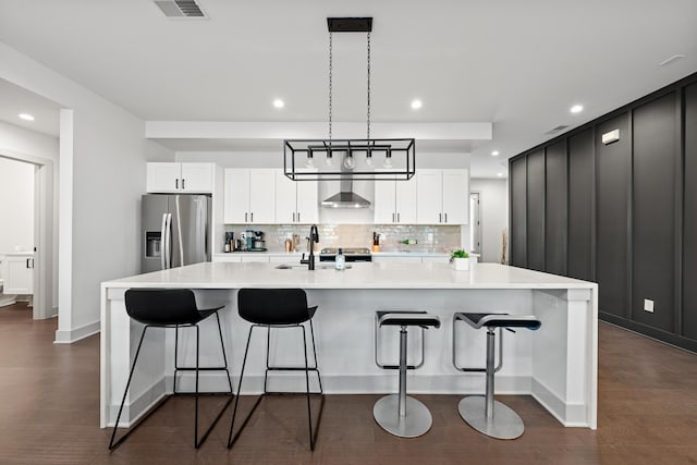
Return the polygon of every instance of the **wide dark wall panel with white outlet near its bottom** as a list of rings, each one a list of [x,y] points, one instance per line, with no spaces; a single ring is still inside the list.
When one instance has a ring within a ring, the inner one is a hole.
[[[632,319],[674,331],[675,93],[634,109]],[[653,313],[644,301],[653,301]]]

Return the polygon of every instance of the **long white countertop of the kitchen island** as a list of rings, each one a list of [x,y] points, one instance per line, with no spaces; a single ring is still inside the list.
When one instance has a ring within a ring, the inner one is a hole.
[[[296,264],[294,264],[296,265]],[[325,264],[321,264],[325,265]],[[351,269],[277,269],[278,264],[203,262],[102,283],[102,287],[591,289],[597,284],[497,264],[354,262]]]

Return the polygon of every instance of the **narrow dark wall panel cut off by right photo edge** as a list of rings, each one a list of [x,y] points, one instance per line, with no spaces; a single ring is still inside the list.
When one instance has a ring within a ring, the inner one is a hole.
[[[697,84],[685,88],[682,334],[697,340]]]

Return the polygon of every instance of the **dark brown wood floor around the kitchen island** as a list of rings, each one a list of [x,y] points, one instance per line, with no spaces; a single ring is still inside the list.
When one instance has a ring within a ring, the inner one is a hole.
[[[110,431],[98,427],[99,338],[56,345],[54,331],[56,320],[33,321],[21,304],[0,309],[0,464],[697,463],[697,356],[603,323],[597,431],[561,427],[529,396],[502,396],[526,430],[492,440],[460,419],[458,396],[420,395],[433,428],[400,440],[375,425],[378,396],[330,395],[314,453],[297,397],[265,400],[232,451],[230,409],[196,451],[193,401],[173,399],[109,453]]]

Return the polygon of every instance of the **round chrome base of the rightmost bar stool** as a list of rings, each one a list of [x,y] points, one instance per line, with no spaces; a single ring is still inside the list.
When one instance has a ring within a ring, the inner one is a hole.
[[[493,401],[493,416],[487,420],[486,403],[484,395],[469,395],[460,401],[457,411],[470,427],[490,438],[516,439],[523,436],[523,420],[511,407]]]

